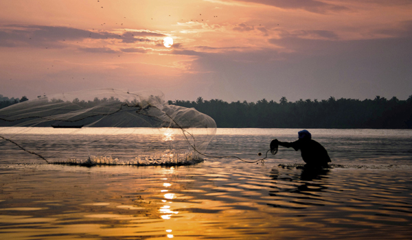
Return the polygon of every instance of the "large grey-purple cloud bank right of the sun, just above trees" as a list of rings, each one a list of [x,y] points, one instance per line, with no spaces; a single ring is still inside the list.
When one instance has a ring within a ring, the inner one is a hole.
[[[368,40],[305,39],[290,36],[271,43],[291,49],[200,53],[196,94],[226,101],[336,98],[407,99],[412,89],[412,37]],[[190,86],[195,88],[196,86]],[[186,89],[186,88],[185,88]]]

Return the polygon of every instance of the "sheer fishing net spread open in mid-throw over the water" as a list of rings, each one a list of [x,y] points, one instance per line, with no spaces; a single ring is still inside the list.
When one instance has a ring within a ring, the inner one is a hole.
[[[216,133],[214,119],[160,91],[115,89],[23,101],[0,109],[0,126],[5,156],[75,165],[198,163]]]

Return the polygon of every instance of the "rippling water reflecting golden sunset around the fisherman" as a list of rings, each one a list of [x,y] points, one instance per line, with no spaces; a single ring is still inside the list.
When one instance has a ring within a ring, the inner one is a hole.
[[[297,131],[218,129],[207,154],[255,160],[271,139],[294,141]],[[300,152],[285,148],[264,165],[47,165],[1,141],[0,239],[410,239],[412,131],[309,131],[331,169],[299,169]],[[95,130],[62,144],[67,133],[43,132],[19,136],[33,149],[54,144],[47,154],[63,158],[82,143],[104,152],[124,139]],[[134,147],[122,141],[116,152]]]

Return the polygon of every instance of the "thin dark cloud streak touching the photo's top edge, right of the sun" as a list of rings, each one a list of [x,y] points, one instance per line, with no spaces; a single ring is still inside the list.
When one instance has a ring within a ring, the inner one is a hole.
[[[277,8],[284,9],[303,9],[308,12],[325,13],[325,12],[341,12],[348,10],[343,5],[326,3],[325,1],[317,0],[236,0],[246,1],[250,3],[260,3],[264,5],[272,5]]]

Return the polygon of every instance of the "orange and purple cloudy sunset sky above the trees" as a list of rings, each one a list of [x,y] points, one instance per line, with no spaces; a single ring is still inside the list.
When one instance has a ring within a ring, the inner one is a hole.
[[[412,0],[0,1],[1,95],[95,88],[407,99]]]

